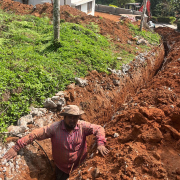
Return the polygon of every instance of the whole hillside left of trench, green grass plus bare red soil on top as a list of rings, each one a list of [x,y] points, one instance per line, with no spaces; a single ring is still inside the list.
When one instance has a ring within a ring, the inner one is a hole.
[[[1,13],[0,131],[27,114],[30,106],[42,107],[45,98],[64,90],[75,77],[85,77],[92,70],[120,69],[159,41],[156,34],[143,32],[149,44],[137,45],[133,36],[138,35],[138,27],[127,19],[113,22],[62,6],[61,40],[54,46],[51,4],[34,10],[2,1],[0,7],[7,11]]]

